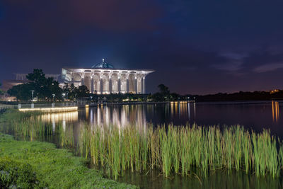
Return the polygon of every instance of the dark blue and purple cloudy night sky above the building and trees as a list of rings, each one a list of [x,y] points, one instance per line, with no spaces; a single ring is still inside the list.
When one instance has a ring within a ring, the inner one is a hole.
[[[0,82],[103,58],[147,92],[283,88],[283,1],[0,0]]]

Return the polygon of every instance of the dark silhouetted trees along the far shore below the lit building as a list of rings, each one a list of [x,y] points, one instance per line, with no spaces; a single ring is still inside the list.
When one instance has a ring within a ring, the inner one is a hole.
[[[149,94],[134,93],[90,93],[86,86],[75,87],[74,84],[64,84],[61,88],[53,78],[46,78],[42,69],[34,69],[27,75],[28,82],[10,88],[7,93],[15,96],[17,101],[91,101],[91,102],[123,102],[123,101],[268,101],[273,99],[283,100],[283,90],[254,91],[238,93],[216,93],[209,95],[180,95],[171,93],[168,86],[158,85],[158,92]],[[4,91],[0,91],[0,94]]]

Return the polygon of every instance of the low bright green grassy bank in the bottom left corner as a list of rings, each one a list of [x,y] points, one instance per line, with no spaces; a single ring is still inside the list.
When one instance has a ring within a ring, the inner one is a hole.
[[[86,163],[54,144],[0,134],[0,188],[135,188],[103,178]]]

